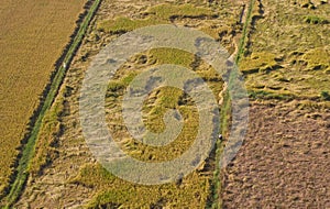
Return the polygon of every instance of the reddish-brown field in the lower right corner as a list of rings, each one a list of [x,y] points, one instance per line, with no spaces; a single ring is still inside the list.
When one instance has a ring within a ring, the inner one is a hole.
[[[329,208],[330,111],[253,102],[250,130],[226,168],[223,208]]]

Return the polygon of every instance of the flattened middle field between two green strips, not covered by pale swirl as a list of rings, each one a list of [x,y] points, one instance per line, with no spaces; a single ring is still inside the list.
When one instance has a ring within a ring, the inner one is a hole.
[[[144,186],[122,180],[98,164],[88,150],[81,132],[78,102],[84,74],[95,55],[111,40],[131,30],[158,23],[188,25],[206,31],[233,51],[231,38],[235,30],[240,31],[239,25],[235,24],[240,19],[241,6],[224,3],[223,10],[220,8],[222,6],[211,7],[200,1],[189,1],[186,4],[162,1],[102,1],[90,25],[89,34],[68,69],[59,95],[45,116],[35,156],[30,167],[32,175],[15,206],[22,208],[204,208],[211,190],[210,184],[213,177],[211,163],[201,166],[182,182],[165,185]],[[219,34],[222,34],[221,37]],[[168,63],[183,65],[193,70],[195,68],[200,77],[209,81],[208,85],[216,97],[222,89],[221,78],[212,73],[209,65],[196,62],[190,54],[153,50],[131,57],[117,72],[116,80],[109,81],[106,111],[111,133],[123,150],[125,148],[128,153],[141,161],[166,161],[180,155],[190,145],[190,135],[196,132],[195,127],[198,121],[189,99],[183,97],[180,91],[166,88],[150,95],[143,113],[151,130],[162,130],[164,127],[161,114],[164,113],[164,108],[176,107],[183,111],[191,127],[187,128],[185,138],[180,139],[176,146],[163,150],[145,147],[131,139],[122,124],[120,100],[128,84],[143,69]],[[162,100],[170,95],[175,97]],[[188,103],[180,102],[178,99],[184,99]]]

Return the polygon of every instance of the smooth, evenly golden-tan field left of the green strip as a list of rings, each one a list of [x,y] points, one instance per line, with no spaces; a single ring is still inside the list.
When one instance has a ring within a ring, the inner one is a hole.
[[[0,3],[0,196],[8,186],[29,118],[38,106],[85,2]]]

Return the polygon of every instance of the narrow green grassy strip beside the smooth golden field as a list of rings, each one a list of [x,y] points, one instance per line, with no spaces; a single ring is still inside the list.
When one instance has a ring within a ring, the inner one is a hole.
[[[91,21],[95,12],[97,11],[97,9],[100,4],[100,1],[101,0],[96,0],[94,2],[94,4],[89,9],[84,22],[80,24],[79,31],[78,31],[76,37],[74,38],[65,58],[64,58],[64,63],[66,63],[66,65],[69,64],[69,62],[73,59],[73,57],[75,55],[75,52],[78,50],[78,47],[82,41],[82,37],[85,36],[85,33],[88,29],[89,22]],[[44,118],[45,112],[51,108],[55,96],[57,95],[59,86],[65,77],[66,69],[67,69],[67,66],[61,66],[53,79],[50,91],[45,98],[43,107],[40,111],[40,114],[35,121],[35,124],[33,127],[31,135],[28,140],[28,143],[26,143],[26,145],[23,150],[22,156],[20,158],[19,166],[16,168],[15,180],[12,184],[10,193],[7,197],[7,207],[11,207],[18,200],[18,198],[20,197],[20,194],[24,187],[24,184],[29,176],[28,166],[29,166],[31,157],[34,154],[34,144],[37,139],[37,134],[38,134],[38,131],[40,131],[40,128],[42,124],[42,120]]]

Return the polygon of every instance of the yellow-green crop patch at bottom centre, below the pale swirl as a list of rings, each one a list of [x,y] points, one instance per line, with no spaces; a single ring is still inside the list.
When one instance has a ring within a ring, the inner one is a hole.
[[[122,180],[103,167],[82,167],[72,180],[101,190],[87,208],[204,208],[209,187],[208,177],[193,173],[182,183],[142,186]]]

